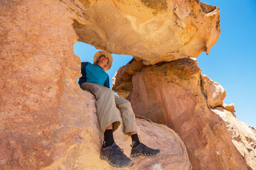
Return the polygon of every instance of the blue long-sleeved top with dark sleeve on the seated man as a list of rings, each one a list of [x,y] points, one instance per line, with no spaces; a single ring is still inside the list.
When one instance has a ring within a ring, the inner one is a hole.
[[[81,65],[82,77],[78,81],[80,86],[87,82],[110,88],[110,77],[102,67],[97,64],[90,64],[90,62],[81,62]]]

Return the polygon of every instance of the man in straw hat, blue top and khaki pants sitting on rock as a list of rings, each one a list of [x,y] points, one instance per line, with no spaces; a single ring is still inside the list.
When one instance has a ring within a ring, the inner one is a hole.
[[[78,83],[81,89],[90,91],[97,100],[97,116],[100,128],[104,132],[100,159],[106,160],[114,167],[132,166],[132,160],[114,142],[113,132],[120,125],[116,107],[121,113],[124,133],[132,136],[131,157],[157,157],[160,155],[160,150],[146,147],[139,141],[131,104],[126,99],[115,96],[110,89],[110,78],[105,71],[110,69],[112,60],[112,55],[109,52],[99,51],[94,56],[93,64],[82,62],[82,77]]]

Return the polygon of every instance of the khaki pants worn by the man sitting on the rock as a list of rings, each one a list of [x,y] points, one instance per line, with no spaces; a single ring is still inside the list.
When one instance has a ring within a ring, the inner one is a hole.
[[[120,120],[117,108],[119,108],[121,112],[122,122],[124,123],[124,133],[137,132],[135,115],[132,111],[131,103],[129,103],[127,99],[115,96],[111,89],[98,84],[83,83],[81,88],[95,95],[97,100],[97,117],[103,132],[105,132],[106,128],[111,124],[113,124],[113,132],[119,127]]]

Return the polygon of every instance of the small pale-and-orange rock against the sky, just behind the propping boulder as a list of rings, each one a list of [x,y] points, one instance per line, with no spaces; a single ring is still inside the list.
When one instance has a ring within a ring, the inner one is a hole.
[[[223,87],[213,80],[209,79],[206,75],[202,74],[201,77],[202,91],[206,96],[210,108],[222,106],[225,98],[225,90]]]

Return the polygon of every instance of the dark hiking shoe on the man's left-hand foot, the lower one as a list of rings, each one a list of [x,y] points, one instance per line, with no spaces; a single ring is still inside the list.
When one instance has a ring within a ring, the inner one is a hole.
[[[124,154],[124,151],[116,143],[105,148],[103,147],[104,145],[105,143],[103,143],[100,149],[100,159],[107,161],[111,166],[117,168],[133,165],[132,160]]]

